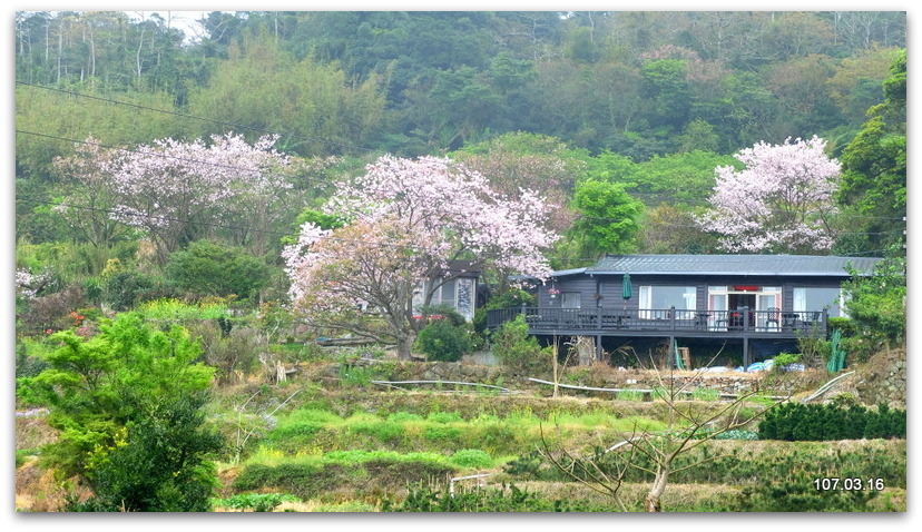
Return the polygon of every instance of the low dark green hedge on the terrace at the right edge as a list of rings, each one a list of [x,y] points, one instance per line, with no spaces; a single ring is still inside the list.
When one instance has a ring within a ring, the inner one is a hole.
[[[906,437],[906,412],[881,405],[785,403],[766,413],[758,425],[762,440],[828,441]]]

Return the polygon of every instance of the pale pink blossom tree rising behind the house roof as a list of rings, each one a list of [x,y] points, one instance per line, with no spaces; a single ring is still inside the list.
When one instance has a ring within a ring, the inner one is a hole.
[[[746,167],[718,167],[710,209],[699,219],[728,252],[816,254],[835,242],[840,164],[825,140],[758,142],[738,154]]]

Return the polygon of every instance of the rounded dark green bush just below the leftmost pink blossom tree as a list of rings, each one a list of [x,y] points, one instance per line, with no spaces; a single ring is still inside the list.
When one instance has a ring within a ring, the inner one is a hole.
[[[269,280],[268,266],[244,248],[197,240],[166,265],[176,287],[193,294],[249,298]]]

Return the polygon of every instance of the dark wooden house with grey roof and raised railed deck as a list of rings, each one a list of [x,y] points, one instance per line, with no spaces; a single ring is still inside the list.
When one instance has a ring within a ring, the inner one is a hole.
[[[804,335],[825,335],[844,317],[842,283],[867,275],[880,258],[806,255],[612,255],[555,272],[536,289],[537,306],[490,311],[497,327],[524,314],[536,336],[591,336],[597,354],[611,339],[742,344],[743,365]],[[769,353],[771,354],[771,353]]]

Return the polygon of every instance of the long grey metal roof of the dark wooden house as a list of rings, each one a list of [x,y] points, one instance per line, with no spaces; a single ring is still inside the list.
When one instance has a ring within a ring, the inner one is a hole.
[[[877,257],[831,257],[814,255],[609,255],[586,268],[589,275],[776,275],[849,276],[872,272]],[[575,273],[572,270],[565,270]],[[567,275],[558,272],[556,275]]]

